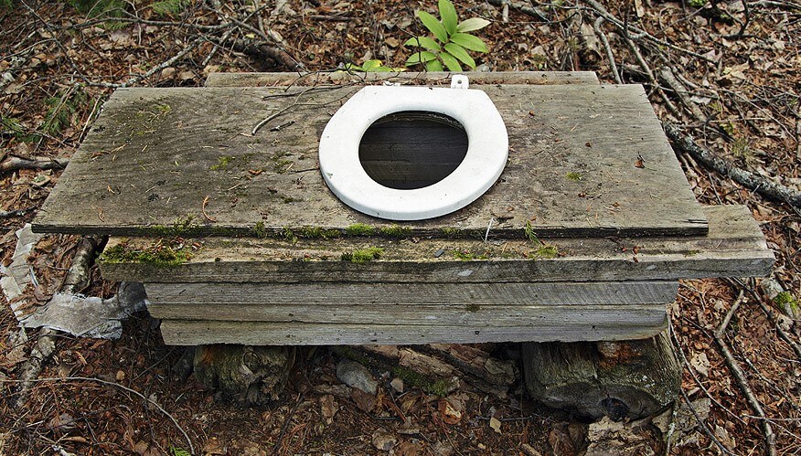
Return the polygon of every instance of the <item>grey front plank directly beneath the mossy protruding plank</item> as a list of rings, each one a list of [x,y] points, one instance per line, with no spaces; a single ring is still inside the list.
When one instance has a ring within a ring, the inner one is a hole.
[[[145,283],[147,299],[154,304],[182,308],[201,304],[249,306],[328,307],[376,304],[418,312],[424,306],[449,305],[495,312],[497,305],[570,306],[625,305],[673,302],[676,281],[605,281],[535,283]],[[220,304],[224,303],[224,304]],[[176,306],[176,307],[178,307]],[[283,311],[281,311],[283,312]],[[294,313],[287,310],[288,313]],[[161,318],[161,317],[159,317]]]

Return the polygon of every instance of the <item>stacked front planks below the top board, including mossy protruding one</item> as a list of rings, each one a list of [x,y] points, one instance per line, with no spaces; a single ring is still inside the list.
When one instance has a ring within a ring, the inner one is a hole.
[[[173,345],[639,339],[664,330],[676,280],[763,276],[773,265],[746,207],[703,209],[707,236],[540,239],[553,258],[539,242],[492,237],[207,238],[183,239],[191,258],[181,264],[101,258],[101,272],[145,283]],[[107,249],[164,242],[112,238]],[[379,258],[347,260],[370,248]]]

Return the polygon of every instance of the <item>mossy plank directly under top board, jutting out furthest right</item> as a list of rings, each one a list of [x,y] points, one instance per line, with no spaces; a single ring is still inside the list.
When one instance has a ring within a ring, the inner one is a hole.
[[[111,281],[174,282],[531,282],[672,281],[701,277],[767,275],[774,255],[747,207],[704,207],[707,236],[643,239],[545,239],[561,256],[543,258],[539,244],[521,240],[489,243],[471,239],[411,240],[342,238],[189,239],[193,257],[159,266],[101,258]],[[159,239],[112,238],[128,249],[149,249]],[[355,249],[381,248],[364,263],[339,260]],[[635,249],[636,248],[636,249]],[[186,248],[188,249],[188,248]],[[465,253],[466,252],[466,253]],[[550,250],[552,252],[552,249]],[[440,254],[437,256],[437,254]],[[476,260],[457,260],[475,256]]]

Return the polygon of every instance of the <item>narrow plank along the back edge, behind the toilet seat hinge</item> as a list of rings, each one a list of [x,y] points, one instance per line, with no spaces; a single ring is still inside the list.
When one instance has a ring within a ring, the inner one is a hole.
[[[209,73],[207,87],[311,86],[354,82],[401,82],[449,86],[451,73],[446,71],[406,71],[401,73]],[[471,84],[599,84],[594,71],[467,71]]]

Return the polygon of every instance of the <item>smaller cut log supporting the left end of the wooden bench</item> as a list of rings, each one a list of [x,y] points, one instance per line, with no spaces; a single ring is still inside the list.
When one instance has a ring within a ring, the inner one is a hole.
[[[283,391],[294,353],[288,346],[199,345],[195,378],[225,398],[262,404]]]

